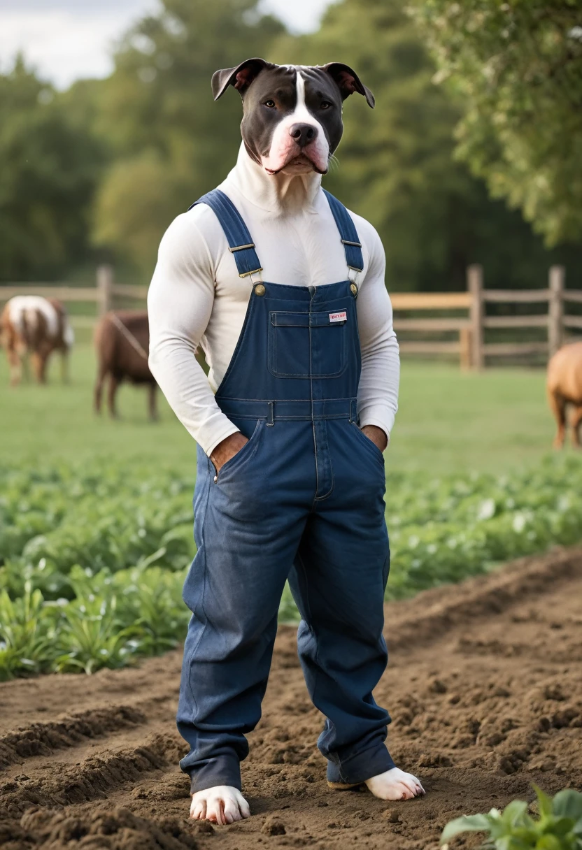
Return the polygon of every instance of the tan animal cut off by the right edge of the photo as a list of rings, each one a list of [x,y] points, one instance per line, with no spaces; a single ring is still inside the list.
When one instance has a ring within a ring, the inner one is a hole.
[[[558,430],[554,446],[561,449],[566,433],[566,408],[573,406],[570,420],[572,443],[580,445],[579,425],[582,422],[582,343],[564,345],[548,364],[548,399],[556,416]]]

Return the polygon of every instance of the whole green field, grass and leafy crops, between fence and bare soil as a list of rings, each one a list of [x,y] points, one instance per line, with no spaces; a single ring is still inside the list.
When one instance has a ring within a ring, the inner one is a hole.
[[[185,633],[194,442],[167,405],[147,422],[133,387],[123,388],[121,422],[94,416],[93,366],[81,348],[71,386],[3,388],[0,619],[13,632],[0,678],[125,666]],[[542,375],[406,363],[402,384],[387,453],[387,598],[579,542],[582,458],[541,461],[551,431]],[[522,454],[536,462],[519,467],[528,422]],[[288,591],[280,616],[297,618]]]

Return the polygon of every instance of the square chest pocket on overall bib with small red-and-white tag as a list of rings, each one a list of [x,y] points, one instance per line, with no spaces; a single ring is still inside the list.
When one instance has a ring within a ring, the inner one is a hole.
[[[339,377],[345,371],[345,310],[269,314],[269,371],[275,377]]]

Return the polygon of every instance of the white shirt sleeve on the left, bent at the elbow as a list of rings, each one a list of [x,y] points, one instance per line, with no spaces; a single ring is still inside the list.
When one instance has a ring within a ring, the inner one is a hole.
[[[220,410],[196,348],[214,303],[214,267],[194,216],[174,219],[160,244],[147,296],[152,375],[207,455],[238,428]]]

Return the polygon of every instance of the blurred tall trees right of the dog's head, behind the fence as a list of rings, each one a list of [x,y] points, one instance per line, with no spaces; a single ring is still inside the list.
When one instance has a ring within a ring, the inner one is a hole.
[[[432,82],[436,66],[405,0],[344,0],[317,32],[283,37],[273,53],[345,62],[374,92],[374,111],[358,95],[345,102],[339,167],[324,184],[379,230],[389,288],[462,289],[476,262],[488,286],[535,286],[551,262],[579,261],[574,249],[546,252],[519,212],[490,201],[454,161],[461,106]]]

